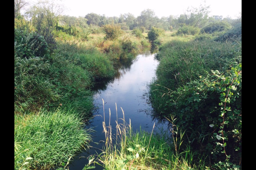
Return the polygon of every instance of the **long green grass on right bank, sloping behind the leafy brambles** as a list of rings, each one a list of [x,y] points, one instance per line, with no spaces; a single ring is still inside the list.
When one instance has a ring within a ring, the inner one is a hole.
[[[206,76],[210,70],[224,71],[230,62],[241,62],[241,45],[213,41],[173,40],[160,47],[157,54],[160,63],[157,79],[151,83],[150,98],[159,114],[172,112],[176,101],[170,101],[172,91],[186,86],[198,76]]]

